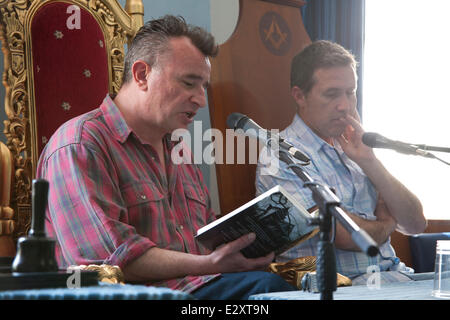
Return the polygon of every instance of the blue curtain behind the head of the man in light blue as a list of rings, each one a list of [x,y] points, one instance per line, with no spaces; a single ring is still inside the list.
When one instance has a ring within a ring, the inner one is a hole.
[[[334,41],[355,55],[359,62],[358,111],[362,115],[365,0],[307,0],[301,11],[312,41]]]

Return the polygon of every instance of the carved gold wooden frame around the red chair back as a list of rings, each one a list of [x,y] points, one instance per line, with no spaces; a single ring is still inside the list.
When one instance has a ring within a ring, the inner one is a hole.
[[[31,221],[31,183],[38,160],[33,86],[31,21],[43,5],[66,2],[86,9],[98,21],[106,42],[109,91],[120,88],[124,46],[143,25],[142,0],[0,0],[0,40],[4,54],[4,133],[14,159],[11,207],[16,223],[14,238],[28,232]]]

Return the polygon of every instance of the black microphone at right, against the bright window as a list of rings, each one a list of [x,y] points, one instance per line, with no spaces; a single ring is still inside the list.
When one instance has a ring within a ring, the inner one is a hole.
[[[418,146],[409,143],[390,140],[375,132],[366,132],[362,136],[362,142],[371,148],[392,149],[404,154],[419,155],[424,157],[433,157],[430,153],[419,149]]]

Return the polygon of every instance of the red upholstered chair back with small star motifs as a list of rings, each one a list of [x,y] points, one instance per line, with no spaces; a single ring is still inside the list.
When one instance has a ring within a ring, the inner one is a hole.
[[[50,2],[31,22],[37,154],[62,123],[96,108],[109,92],[103,31],[84,8],[71,19],[69,6]]]

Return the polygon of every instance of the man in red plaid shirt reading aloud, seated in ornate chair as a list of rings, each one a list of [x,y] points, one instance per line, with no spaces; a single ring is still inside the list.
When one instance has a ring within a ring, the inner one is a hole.
[[[127,281],[200,299],[294,289],[277,275],[255,271],[273,253],[242,255],[253,234],[213,252],[194,239],[215,216],[199,168],[171,161],[182,142],[170,135],[206,105],[209,57],[216,54],[214,38],[181,17],[146,23],[129,46],[117,96],[50,139],[37,176],[50,183],[46,227],[58,240],[60,267],[118,265]]]

